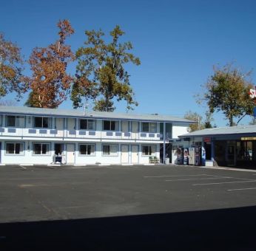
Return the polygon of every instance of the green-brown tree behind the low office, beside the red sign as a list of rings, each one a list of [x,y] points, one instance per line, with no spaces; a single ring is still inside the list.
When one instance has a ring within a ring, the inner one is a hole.
[[[252,115],[254,99],[249,97],[252,83],[251,72],[243,73],[239,69],[226,64],[223,68],[214,67],[214,73],[206,83],[206,92],[199,102],[206,102],[209,111],[223,111],[229,126],[238,125],[246,115]],[[234,119],[238,118],[237,123]]]

